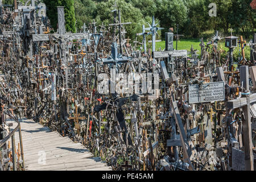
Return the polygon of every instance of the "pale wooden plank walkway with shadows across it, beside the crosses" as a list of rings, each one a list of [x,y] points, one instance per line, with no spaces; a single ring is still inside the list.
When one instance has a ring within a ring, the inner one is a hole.
[[[11,129],[17,123],[13,123]],[[51,131],[32,119],[22,119],[22,141],[26,171],[109,171],[106,163],[93,157],[81,143],[74,143],[68,137],[62,137],[57,131]],[[19,133],[15,133],[18,148]],[[45,163],[43,162],[45,156]],[[21,157],[20,157],[21,159]]]

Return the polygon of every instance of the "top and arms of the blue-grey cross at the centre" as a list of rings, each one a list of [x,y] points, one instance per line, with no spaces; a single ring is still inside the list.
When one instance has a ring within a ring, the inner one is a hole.
[[[128,60],[132,59],[131,57],[126,57],[126,56],[122,56],[121,54],[118,54],[117,51],[117,43],[114,42],[112,44],[112,50],[111,50],[111,56],[109,58],[106,59],[102,59],[103,60],[103,64],[122,64],[122,63],[127,63]]]

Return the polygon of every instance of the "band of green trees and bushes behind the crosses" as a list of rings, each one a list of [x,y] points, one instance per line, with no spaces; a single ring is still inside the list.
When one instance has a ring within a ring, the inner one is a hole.
[[[22,0],[24,1],[24,0]],[[179,34],[184,38],[198,38],[207,30],[219,30],[223,35],[243,35],[252,38],[256,30],[256,10],[250,6],[251,0],[42,0],[47,5],[47,15],[52,27],[57,28],[56,6],[65,7],[67,31],[81,30],[84,23],[96,20],[107,26],[113,23],[114,9],[121,9],[122,22],[132,22],[125,26],[127,36],[135,39],[135,34],[142,31],[142,24],[151,23],[154,15],[159,27],[164,32],[169,27],[176,33],[179,24]],[[114,5],[117,7],[114,7]],[[216,3],[217,16],[210,17],[209,4]],[[13,4],[13,0],[3,0],[3,4]],[[148,37],[147,39],[150,39]],[[158,38],[159,39],[159,38]],[[138,39],[141,41],[141,38]]]

